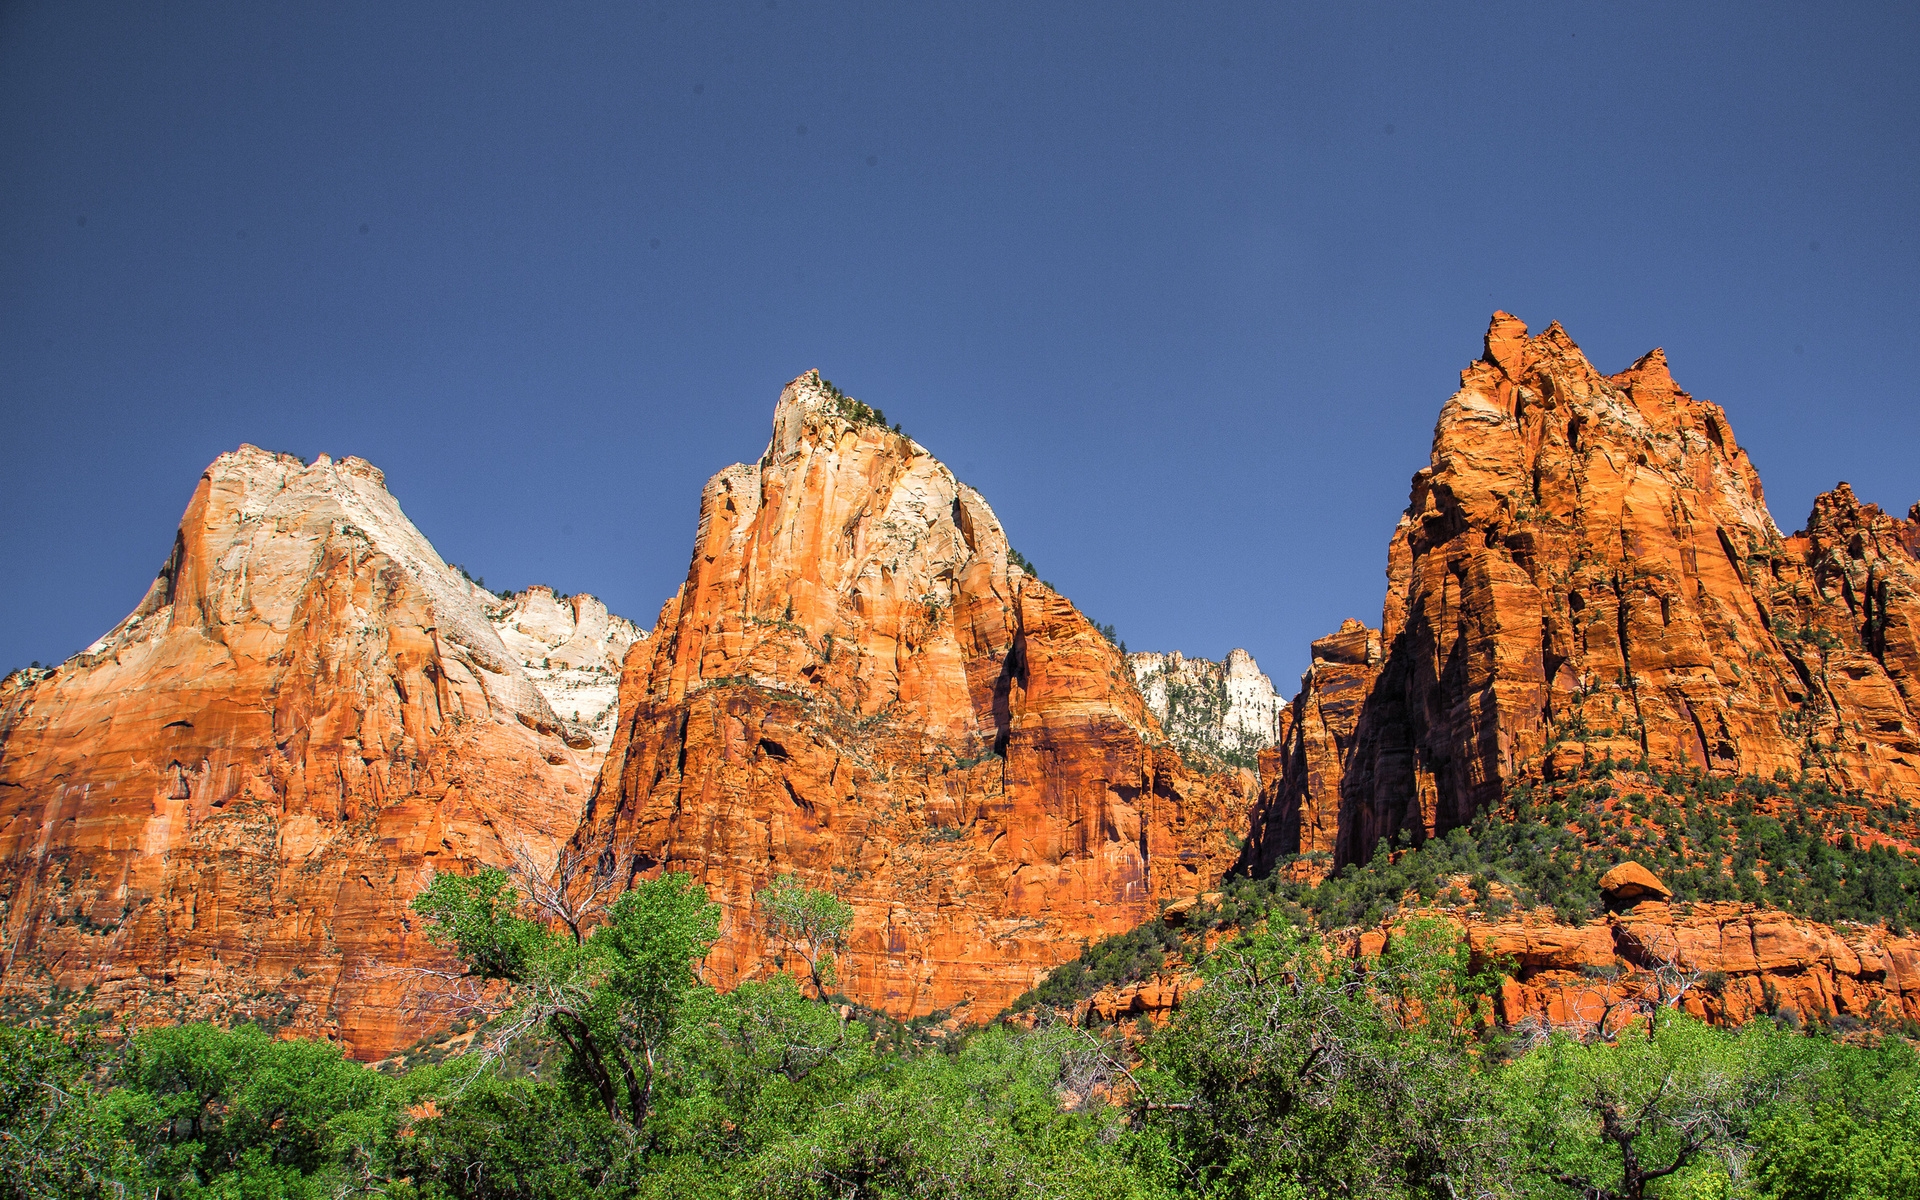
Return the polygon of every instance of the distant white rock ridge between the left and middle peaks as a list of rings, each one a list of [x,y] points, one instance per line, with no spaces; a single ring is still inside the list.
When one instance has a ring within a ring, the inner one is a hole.
[[[547,707],[605,755],[620,716],[620,662],[647,632],[584,591],[555,595],[551,588],[534,586],[501,601],[488,599],[488,622]]]

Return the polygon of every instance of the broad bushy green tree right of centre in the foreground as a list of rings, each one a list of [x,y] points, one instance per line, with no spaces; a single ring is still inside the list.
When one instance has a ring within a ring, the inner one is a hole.
[[[1215,954],[1146,1043],[1135,1110],[1208,1196],[1452,1196],[1488,1185],[1490,1096],[1473,1069],[1480,981],[1457,931],[1419,925],[1380,960],[1294,929]]]

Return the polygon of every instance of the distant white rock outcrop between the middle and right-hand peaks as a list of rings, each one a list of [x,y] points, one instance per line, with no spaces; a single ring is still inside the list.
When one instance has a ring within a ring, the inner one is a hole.
[[[1135,653],[1127,666],[1167,741],[1188,762],[1252,768],[1260,751],[1281,737],[1286,705],[1242,649],[1229,651],[1223,662],[1179,651]]]

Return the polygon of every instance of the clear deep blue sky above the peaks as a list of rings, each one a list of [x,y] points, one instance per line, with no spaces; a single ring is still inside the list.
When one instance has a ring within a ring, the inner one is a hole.
[[[1135,649],[1379,622],[1488,313],[1920,499],[1914,4],[0,8],[0,670],[242,442],[651,624],[818,367]]]

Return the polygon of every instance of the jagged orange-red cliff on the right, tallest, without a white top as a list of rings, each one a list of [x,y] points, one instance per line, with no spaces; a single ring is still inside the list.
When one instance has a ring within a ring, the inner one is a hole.
[[[1824,495],[1782,538],[1718,405],[1496,313],[1388,547],[1379,630],[1313,643],[1256,860],[1367,858],[1582,756],[1920,797],[1916,526]]]

